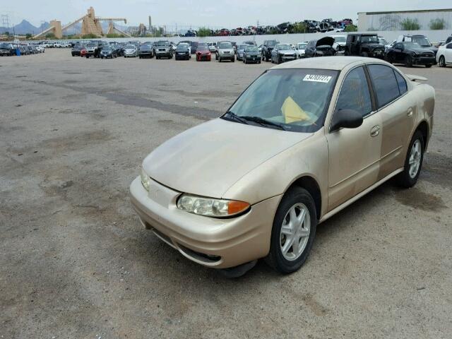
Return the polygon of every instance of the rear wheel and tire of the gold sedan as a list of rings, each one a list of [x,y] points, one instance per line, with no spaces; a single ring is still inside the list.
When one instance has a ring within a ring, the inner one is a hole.
[[[422,161],[424,160],[424,137],[420,131],[416,131],[412,136],[408,146],[407,156],[403,172],[396,177],[398,184],[405,188],[415,186],[417,178],[421,172]]]

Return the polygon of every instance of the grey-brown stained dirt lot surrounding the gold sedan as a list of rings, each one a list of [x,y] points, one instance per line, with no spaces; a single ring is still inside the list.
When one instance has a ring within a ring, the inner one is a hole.
[[[270,66],[0,58],[0,338],[451,338],[450,67],[403,69],[436,89],[420,182],[320,225],[297,273],[226,280],[141,227],[143,157]]]

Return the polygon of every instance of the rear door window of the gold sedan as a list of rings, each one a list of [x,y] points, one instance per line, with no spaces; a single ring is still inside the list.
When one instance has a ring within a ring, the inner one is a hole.
[[[372,85],[374,85],[374,92],[379,108],[393,101],[400,95],[396,75],[391,67],[384,65],[369,65],[367,68],[369,69]]]

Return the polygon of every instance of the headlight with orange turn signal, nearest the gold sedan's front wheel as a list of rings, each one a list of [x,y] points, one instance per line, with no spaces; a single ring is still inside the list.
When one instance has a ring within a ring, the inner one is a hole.
[[[249,203],[182,194],[177,200],[177,208],[198,215],[229,217],[247,210]]]

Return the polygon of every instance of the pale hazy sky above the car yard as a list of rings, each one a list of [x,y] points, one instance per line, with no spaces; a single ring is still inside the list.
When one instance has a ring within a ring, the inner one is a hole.
[[[286,21],[357,19],[357,12],[406,11],[451,8],[451,0],[14,0],[1,1],[0,14],[8,15],[10,25],[25,19],[39,27],[42,21],[71,23],[93,6],[96,16],[121,17],[130,25],[193,25],[210,28],[237,28],[248,25],[277,25]],[[2,25],[0,19],[0,25]]]

